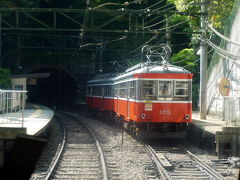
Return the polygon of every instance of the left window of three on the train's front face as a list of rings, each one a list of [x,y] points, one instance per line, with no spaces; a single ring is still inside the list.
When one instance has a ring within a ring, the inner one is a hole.
[[[146,100],[156,100],[157,99],[157,82],[156,81],[146,81],[142,82],[142,98]]]

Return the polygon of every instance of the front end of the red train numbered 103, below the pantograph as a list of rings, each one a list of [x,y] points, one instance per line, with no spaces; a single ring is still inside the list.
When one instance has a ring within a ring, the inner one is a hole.
[[[192,122],[192,74],[177,66],[153,66],[134,78],[138,129],[151,137],[186,137]]]

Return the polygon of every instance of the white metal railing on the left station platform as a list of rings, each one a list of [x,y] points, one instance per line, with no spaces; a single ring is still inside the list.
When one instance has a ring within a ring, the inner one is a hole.
[[[24,126],[27,91],[0,89],[0,124]]]

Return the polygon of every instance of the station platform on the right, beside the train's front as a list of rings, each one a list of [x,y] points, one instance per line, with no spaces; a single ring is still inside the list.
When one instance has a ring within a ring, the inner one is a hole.
[[[240,156],[240,126],[227,124],[223,119],[207,115],[200,119],[192,113],[191,137],[193,143],[214,148],[219,157]]]

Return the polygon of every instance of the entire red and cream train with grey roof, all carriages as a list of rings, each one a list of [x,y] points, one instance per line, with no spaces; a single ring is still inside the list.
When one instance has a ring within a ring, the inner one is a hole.
[[[87,105],[136,136],[183,138],[192,122],[192,74],[182,67],[140,63],[87,84]]]

